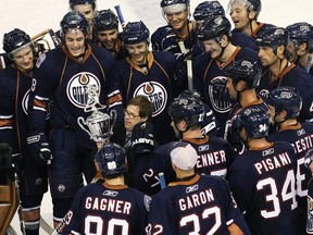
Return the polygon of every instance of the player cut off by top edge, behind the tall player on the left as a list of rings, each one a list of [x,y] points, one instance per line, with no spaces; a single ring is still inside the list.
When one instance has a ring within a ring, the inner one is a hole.
[[[89,27],[88,27],[88,38],[90,40],[93,40],[96,37],[93,33],[93,26],[92,26],[92,20],[97,12],[97,0],[68,0],[70,9],[73,12],[79,12],[83,14],[86,20],[88,21]]]

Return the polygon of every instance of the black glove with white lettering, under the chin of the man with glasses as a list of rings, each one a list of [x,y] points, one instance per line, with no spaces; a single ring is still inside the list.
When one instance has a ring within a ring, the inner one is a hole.
[[[137,123],[132,132],[132,154],[150,154],[154,149],[153,125],[150,122]]]

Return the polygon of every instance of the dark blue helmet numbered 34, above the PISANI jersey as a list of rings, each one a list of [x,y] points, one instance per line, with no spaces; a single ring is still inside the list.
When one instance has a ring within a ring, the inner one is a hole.
[[[268,135],[270,116],[261,107],[248,107],[239,112],[236,126],[238,129],[245,127],[249,138],[262,138]]]

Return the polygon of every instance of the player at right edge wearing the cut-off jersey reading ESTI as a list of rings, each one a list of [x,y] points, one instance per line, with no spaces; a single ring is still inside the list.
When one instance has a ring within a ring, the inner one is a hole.
[[[272,120],[277,132],[267,137],[268,141],[290,143],[297,156],[297,195],[300,226],[305,234],[306,196],[310,172],[304,168],[304,154],[313,148],[313,124],[299,123],[297,118],[302,108],[302,99],[295,87],[279,87],[271,91],[267,99]]]

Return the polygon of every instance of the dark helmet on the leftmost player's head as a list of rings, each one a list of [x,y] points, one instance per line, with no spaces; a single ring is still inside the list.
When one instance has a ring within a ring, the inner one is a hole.
[[[20,49],[23,46],[32,44],[29,35],[20,28],[14,28],[13,30],[3,35],[3,50],[11,58],[12,52]]]

